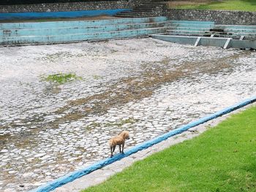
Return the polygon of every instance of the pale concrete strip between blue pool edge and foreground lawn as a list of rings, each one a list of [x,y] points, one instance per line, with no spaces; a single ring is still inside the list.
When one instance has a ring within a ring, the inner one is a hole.
[[[249,104],[248,106],[243,107],[242,109],[236,110],[234,112],[231,112],[228,115],[224,115],[220,118],[208,121],[207,123],[203,123],[200,126],[195,126],[193,128],[190,128],[189,131],[185,131],[184,133],[178,134],[175,137],[170,137],[169,139],[163,142],[160,142],[157,145],[149,147],[146,150],[139,151],[134,155],[130,155],[127,158],[123,158],[120,161],[116,161],[113,164],[105,166],[102,169],[98,169],[95,172],[91,172],[91,174],[87,174],[71,183],[67,183],[66,185],[56,188],[56,190],[54,191],[55,192],[69,192],[69,191],[78,192],[85,188],[89,188],[91,186],[98,185],[99,183],[103,183],[105,180],[108,180],[108,178],[113,176],[113,174],[121,172],[127,167],[131,166],[135,161],[143,160],[144,158],[148,157],[148,155],[157,153],[161,150],[164,150],[167,147],[171,147],[172,145],[177,145],[178,143],[184,142],[187,139],[192,139],[194,137],[197,137],[200,134],[202,134],[204,131],[207,131],[209,127],[217,126],[218,123],[222,122],[223,120],[226,120],[231,115],[241,112],[243,110],[246,110],[248,107],[252,107],[255,105],[256,104]]]

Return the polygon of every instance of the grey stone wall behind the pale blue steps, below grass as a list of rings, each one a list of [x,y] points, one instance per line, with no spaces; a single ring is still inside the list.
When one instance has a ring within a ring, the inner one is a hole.
[[[256,12],[167,9],[170,20],[209,20],[217,24],[256,25]]]

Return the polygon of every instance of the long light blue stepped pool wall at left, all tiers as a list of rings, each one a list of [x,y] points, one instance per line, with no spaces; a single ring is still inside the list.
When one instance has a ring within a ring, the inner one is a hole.
[[[146,37],[148,34],[163,33],[166,26],[165,17],[0,23],[0,45]]]

